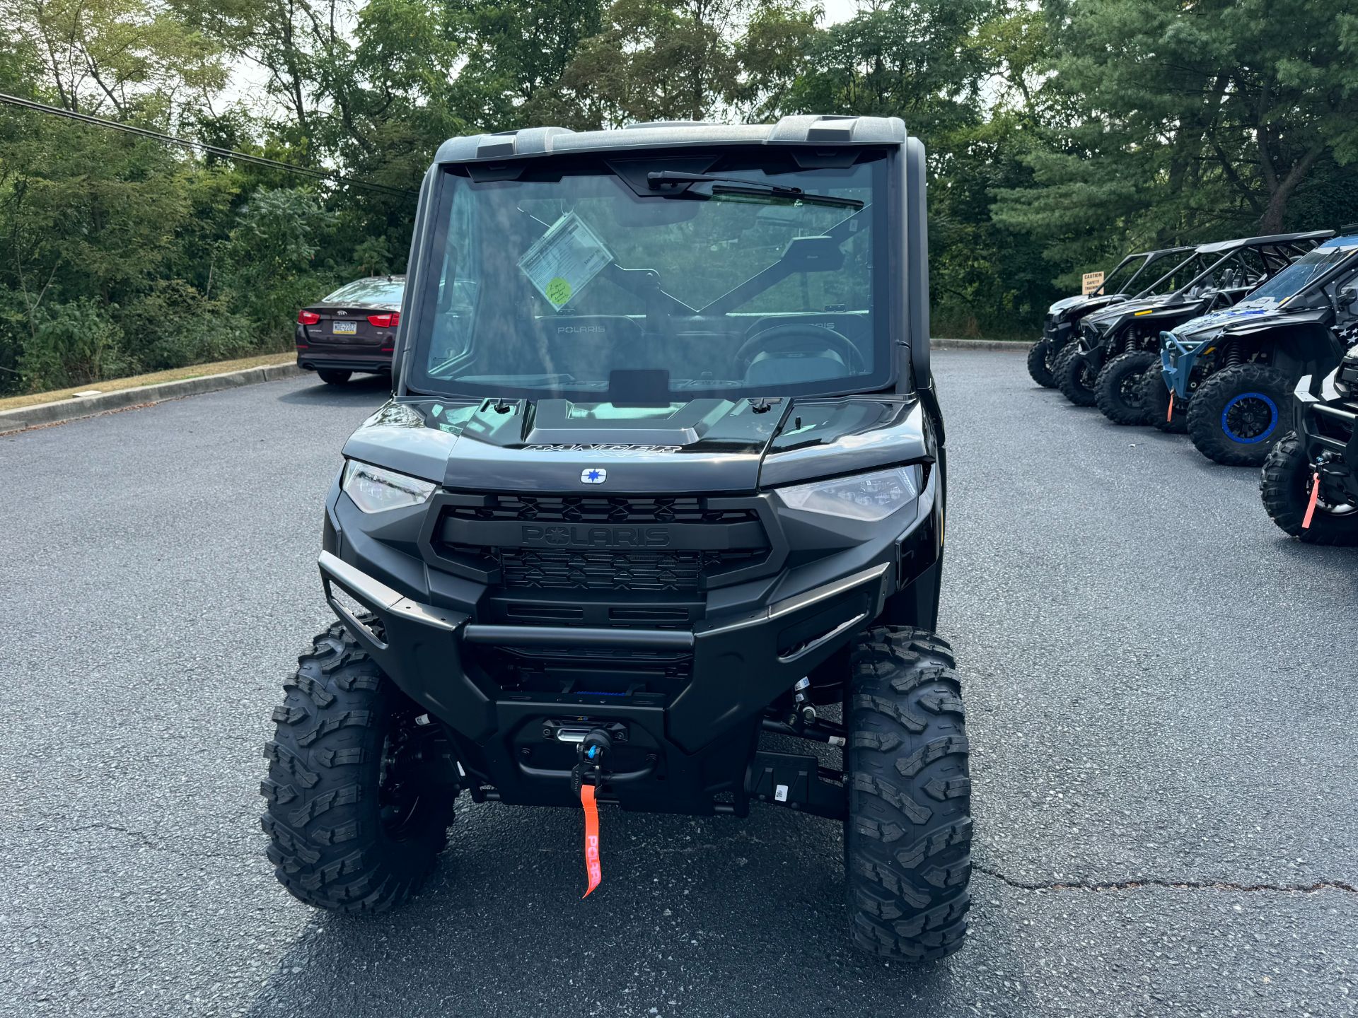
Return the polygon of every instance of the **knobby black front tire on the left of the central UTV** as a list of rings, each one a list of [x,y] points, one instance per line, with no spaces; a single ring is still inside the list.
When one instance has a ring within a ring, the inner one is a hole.
[[[411,825],[392,836],[382,823],[378,775],[387,718],[409,700],[340,623],[297,662],[263,748],[266,854],[278,882],[310,905],[386,911],[433,870],[456,790],[422,797]]]

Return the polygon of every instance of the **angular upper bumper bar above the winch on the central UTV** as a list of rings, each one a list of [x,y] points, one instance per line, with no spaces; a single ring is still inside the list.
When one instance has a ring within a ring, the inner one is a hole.
[[[641,723],[661,745],[697,753],[740,726],[865,628],[895,590],[895,569],[879,563],[796,597],[694,630],[490,626],[421,604],[337,555],[319,559],[326,600],[382,671],[455,733],[488,744],[534,714],[588,715]],[[337,592],[380,623],[368,626]],[[464,666],[467,645],[615,647],[693,656],[690,681],[668,702],[585,692],[502,690],[494,676]],[[622,702],[619,702],[622,700]]]

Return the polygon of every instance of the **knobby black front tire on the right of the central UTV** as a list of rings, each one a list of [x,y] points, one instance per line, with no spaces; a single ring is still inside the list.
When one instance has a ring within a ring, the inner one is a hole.
[[[845,880],[850,937],[873,954],[929,961],[967,934],[971,782],[955,666],[947,641],[913,628],[875,628],[851,654]]]

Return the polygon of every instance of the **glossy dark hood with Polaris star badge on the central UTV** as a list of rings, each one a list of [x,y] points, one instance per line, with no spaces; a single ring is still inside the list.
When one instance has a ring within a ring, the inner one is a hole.
[[[765,409],[767,407],[767,409]],[[693,399],[660,407],[566,399],[394,399],[345,456],[448,489],[750,493],[926,456],[918,400]]]

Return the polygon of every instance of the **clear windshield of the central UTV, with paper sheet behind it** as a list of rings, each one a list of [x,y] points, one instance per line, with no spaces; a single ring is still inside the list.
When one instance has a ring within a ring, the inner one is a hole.
[[[449,167],[409,387],[595,402],[883,388],[887,159],[857,159],[553,157],[511,181]]]

